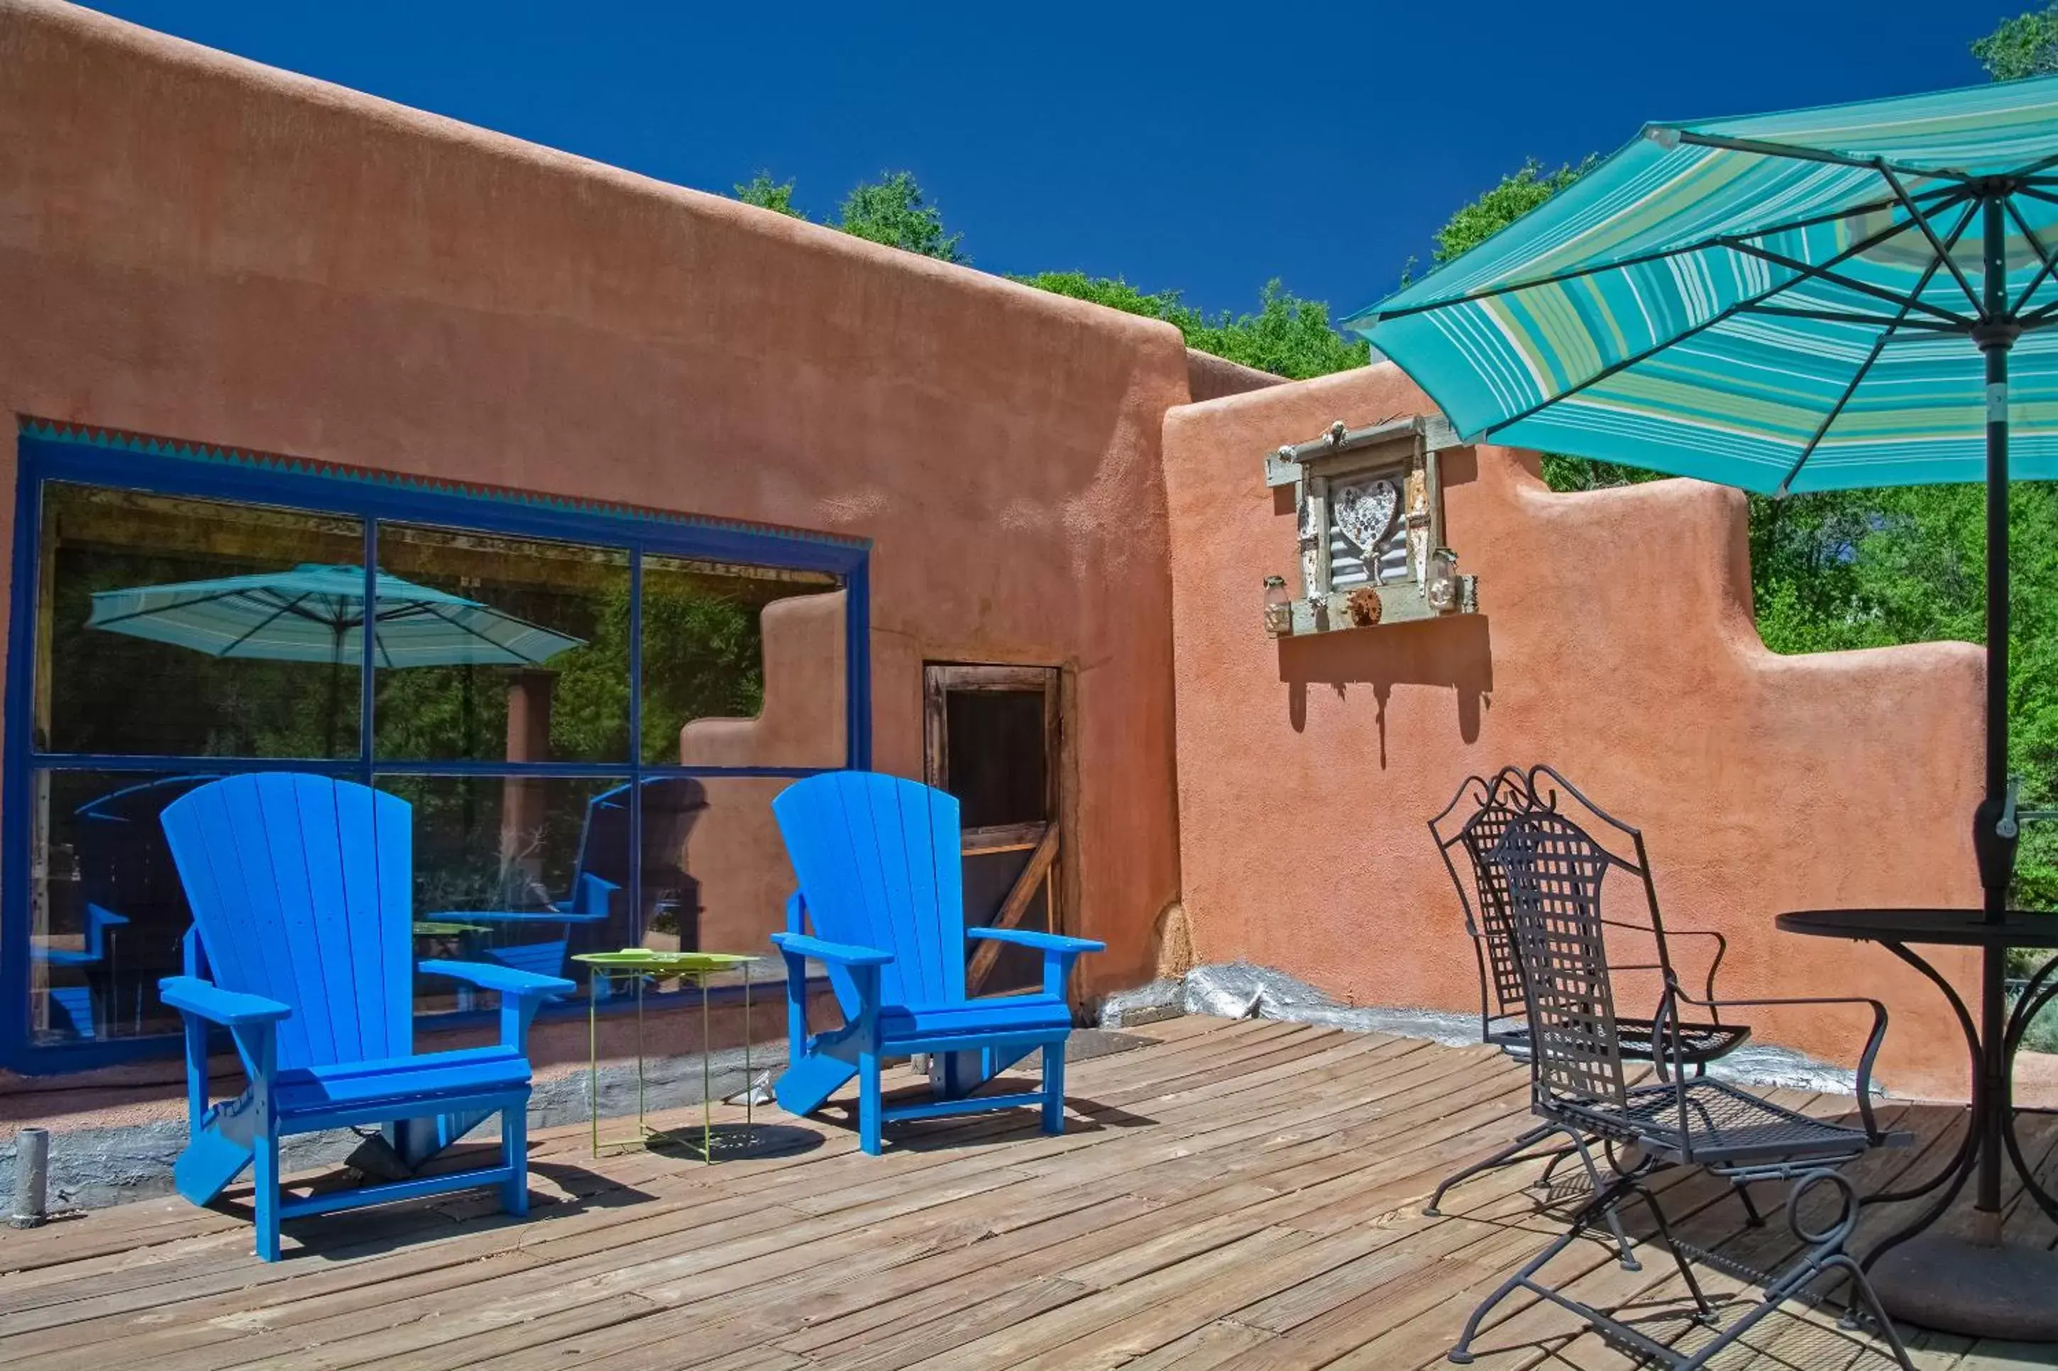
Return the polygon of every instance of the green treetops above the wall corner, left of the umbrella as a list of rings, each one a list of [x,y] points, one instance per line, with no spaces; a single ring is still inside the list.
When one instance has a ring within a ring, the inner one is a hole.
[[[1128,314],[1163,319],[1185,335],[1187,347],[1294,380],[1364,366],[1371,356],[1362,339],[1346,339],[1329,327],[1327,304],[1303,300],[1276,280],[1266,282],[1255,314],[1229,310],[1206,314],[1183,304],[1177,290],[1144,294],[1122,277],[1093,277],[1083,271],[1043,271],[1017,280]]]

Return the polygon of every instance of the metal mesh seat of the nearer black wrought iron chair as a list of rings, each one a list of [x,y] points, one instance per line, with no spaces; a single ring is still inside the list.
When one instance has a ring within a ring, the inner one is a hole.
[[[1842,1161],[1873,1145],[1865,1128],[1813,1118],[1708,1077],[1686,1083],[1683,1110],[1673,1085],[1638,1085],[1628,1091],[1626,1112],[1599,1102],[1568,1112],[1599,1133],[1634,1141],[1653,1157],[1698,1165]]]

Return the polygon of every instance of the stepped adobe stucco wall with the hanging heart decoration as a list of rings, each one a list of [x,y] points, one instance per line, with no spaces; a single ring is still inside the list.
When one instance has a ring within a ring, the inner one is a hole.
[[[1980,654],[1774,656],[1751,623],[1741,493],[1556,495],[1533,456],[1500,448],[1445,456],[1447,539],[1482,615],[1266,639],[1262,580],[1299,582],[1290,491],[1266,489],[1264,454],[1334,419],[1430,411],[1387,364],[1165,419],[1196,958],[1249,958],[1354,1003],[1476,1009],[1424,820],[1467,773],[1548,761],[1644,830],[1667,923],[1729,935],[1725,995],[1879,995],[1881,1077],[1963,1096],[1963,1042],[1926,983],[1772,917],[1978,902]],[[1850,1011],[1739,1017],[1844,1063],[1867,1028]]]

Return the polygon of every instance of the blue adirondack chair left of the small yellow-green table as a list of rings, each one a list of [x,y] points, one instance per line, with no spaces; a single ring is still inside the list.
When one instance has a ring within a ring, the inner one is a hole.
[[[317,775],[235,775],[165,808],[165,837],[193,927],[185,976],[158,991],[185,1020],[191,1141],[173,1176],[208,1205],[255,1168],[257,1256],[278,1260],[282,1219],[498,1186],[529,1209],[527,1034],[570,980],[480,962],[420,970],[500,993],[500,1044],[414,1050],[414,814],[407,802]],[[206,978],[212,972],[212,980]],[[208,1026],[230,1032],[249,1089],[208,1104]],[[278,1184],[294,1133],[381,1124],[420,1161],[500,1114],[500,1161],[311,1198]]]

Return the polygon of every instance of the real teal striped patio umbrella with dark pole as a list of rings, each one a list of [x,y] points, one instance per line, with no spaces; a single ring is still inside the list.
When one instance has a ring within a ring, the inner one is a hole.
[[[2054,253],[2058,78],[2039,78],[1653,123],[1346,327],[1471,440],[1772,495],[1986,481],[1976,835],[1998,919],[2007,483],[2058,477]]]

